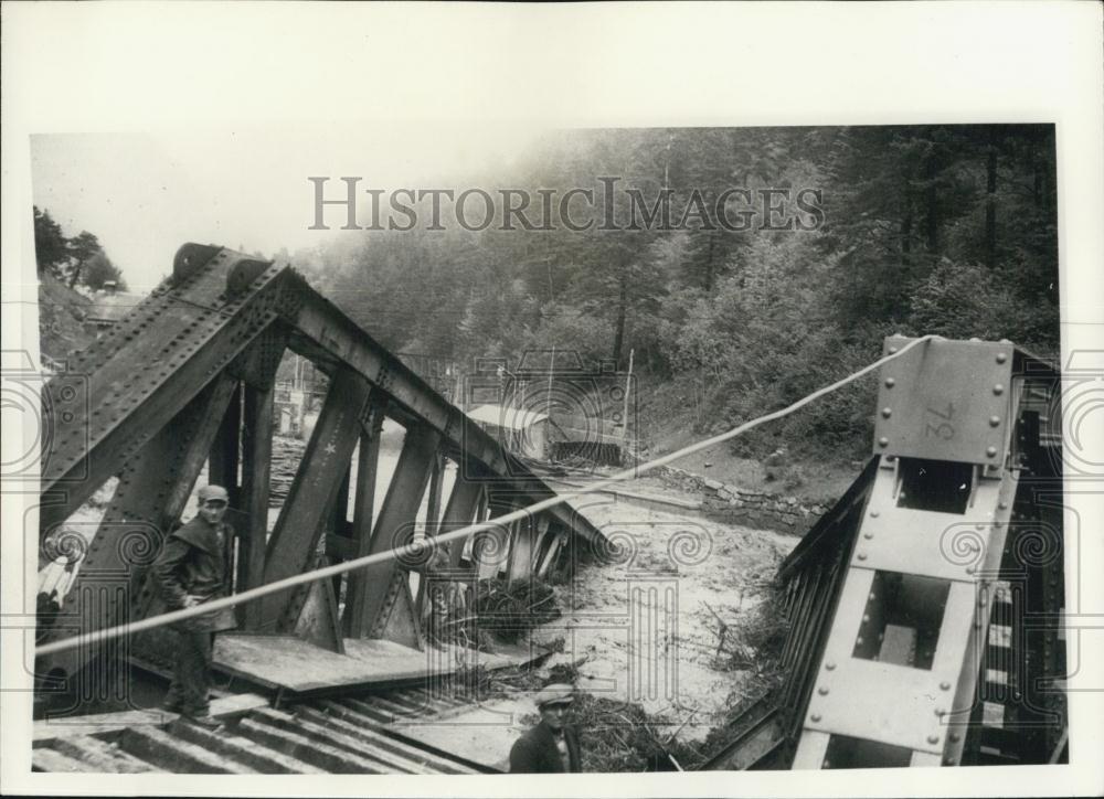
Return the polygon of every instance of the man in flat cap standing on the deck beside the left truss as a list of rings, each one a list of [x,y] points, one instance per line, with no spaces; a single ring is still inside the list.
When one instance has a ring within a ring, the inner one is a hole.
[[[199,513],[172,533],[151,569],[170,610],[190,608],[224,596],[231,529],[222,521],[230,497],[222,486],[199,491]],[[164,709],[205,727],[217,727],[211,716],[208,690],[214,633],[234,627],[232,608],[214,610],[170,626],[179,638],[171,654],[172,683]]]

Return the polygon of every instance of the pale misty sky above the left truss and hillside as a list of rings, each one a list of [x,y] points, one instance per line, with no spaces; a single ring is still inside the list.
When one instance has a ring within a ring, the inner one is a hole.
[[[338,235],[308,230],[308,175],[333,178],[336,191],[342,175],[362,177],[362,188],[447,188],[508,169],[535,137],[518,127],[439,125],[34,136],[32,189],[65,235],[96,234],[130,289],[147,291],[184,242],[270,256]],[[331,219],[340,224],[340,213]]]

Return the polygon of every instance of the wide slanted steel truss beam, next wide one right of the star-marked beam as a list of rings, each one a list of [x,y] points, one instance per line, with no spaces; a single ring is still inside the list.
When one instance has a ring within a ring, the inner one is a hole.
[[[403,440],[403,451],[399,456],[394,476],[388,486],[388,494],[380,509],[380,516],[372,530],[369,554],[386,552],[394,546],[407,543],[414,534],[414,521],[422,494],[429,480],[433,459],[436,456],[440,437],[425,426],[407,430]],[[373,564],[362,569],[364,575],[364,592],[362,598],[364,618],[369,619],[369,635],[380,637],[391,614],[385,607],[390,597],[396,598],[392,580],[400,571],[394,561]]]

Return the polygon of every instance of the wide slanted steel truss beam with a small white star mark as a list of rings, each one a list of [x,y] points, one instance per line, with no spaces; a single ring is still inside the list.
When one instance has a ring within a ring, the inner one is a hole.
[[[368,383],[360,375],[350,370],[341,370],[335,375],[268,541],[265,583],[301,574],[314,562],[322,521],[332,507],[340,477],[357,445],[360,416],[368,395]],[[290,590],[262,598],[258,629],[291,629],[298,610],[294,607],[295,598]]]

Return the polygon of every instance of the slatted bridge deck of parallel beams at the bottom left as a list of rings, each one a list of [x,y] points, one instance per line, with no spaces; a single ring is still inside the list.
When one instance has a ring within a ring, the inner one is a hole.
[[[402,733],[403,722],[444,721],[473,704],[470,695],[400,689],[257,707],[217,731],[179,717],[105,733],[60,727],[57,737],[35,742],[31,764],[97,774],[497,774]]]

